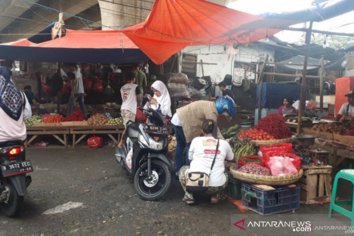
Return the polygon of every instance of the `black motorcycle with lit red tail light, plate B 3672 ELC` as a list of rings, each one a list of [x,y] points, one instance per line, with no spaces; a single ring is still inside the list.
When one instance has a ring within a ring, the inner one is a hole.
[[[32,180],[26,173],[33,171],[21,140],[0,143],[0,168],[0,211],[15,217],[22,209],[23,197]]]

